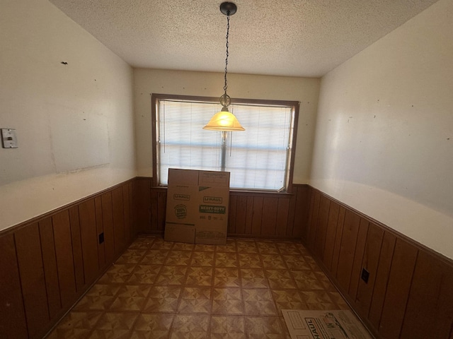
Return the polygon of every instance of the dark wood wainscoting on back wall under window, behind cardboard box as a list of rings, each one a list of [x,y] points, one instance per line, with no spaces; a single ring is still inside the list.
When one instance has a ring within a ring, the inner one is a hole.
[[[145,177],[134,185],[139,232],[164,234],[166,189],[151,187],[151,178]],[[292,194],[231,191],[228,237],[300,239],[308,212],[307,185],[293,185]]]

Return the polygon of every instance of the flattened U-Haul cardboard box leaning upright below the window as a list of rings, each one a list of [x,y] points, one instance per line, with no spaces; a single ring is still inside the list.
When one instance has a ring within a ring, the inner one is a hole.
[[[164,239],[226,244],[229,172],[168,169]]]

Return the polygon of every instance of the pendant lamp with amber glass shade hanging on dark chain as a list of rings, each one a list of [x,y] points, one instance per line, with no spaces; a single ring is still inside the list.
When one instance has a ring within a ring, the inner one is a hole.
[[[214,131],[245,131],[245,129],[239,124],[238,119],[234,114],[228,111],[228,106],[231,104],[231,98],[226,94],[226,88],[228,87],[226,82],[226,68],[228,66],[228,37],[229,37],[229,16],[232,16],[236,13],[237,7],[232,2],[224,2],[220,5],[220,11],[226,16],[226,59],[225,59],[225,85],[224,85],[224,94],[220,97],[220,104],[222,105],[222,110],[216,114],[207,123],[203,129],[210,129]],[[226,134],[226,133],[224,133]],[[226,136],[225,136],[226,137]]]

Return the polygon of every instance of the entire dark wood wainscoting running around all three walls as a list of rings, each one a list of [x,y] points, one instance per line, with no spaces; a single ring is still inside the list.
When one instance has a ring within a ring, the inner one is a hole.
[[[42,338],[165,210],[139,177],[0,232],[0,338]],[[228,235],[302,238],[377,338],[453,338],[453,262],[310,186],[231,192]]]

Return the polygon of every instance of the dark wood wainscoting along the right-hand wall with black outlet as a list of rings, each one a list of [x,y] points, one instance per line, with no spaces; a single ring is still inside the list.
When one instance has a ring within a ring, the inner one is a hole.
[[[310,191],[302,239],[372,333],[452,339],[453,261]],[[361,279],[362,268],[369,272],[368,283]]]

